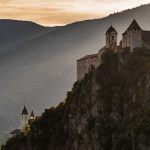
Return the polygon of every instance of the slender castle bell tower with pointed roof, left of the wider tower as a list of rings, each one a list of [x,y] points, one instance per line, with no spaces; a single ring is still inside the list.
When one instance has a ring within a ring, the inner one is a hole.
[[[106,32],[106,48],[113,50],[114,52],[117,51],[117,31],[111,25]]]

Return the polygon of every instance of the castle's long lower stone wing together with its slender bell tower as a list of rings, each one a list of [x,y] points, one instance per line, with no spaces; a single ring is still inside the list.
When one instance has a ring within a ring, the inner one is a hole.
[[[101,64],[101,56],[106,50],[117,52],[117,31],[111,26],[106,32],[106,46],[97,54],[86,55],[77,60],[77,80],[81,80],[92,67],[97,68]]]

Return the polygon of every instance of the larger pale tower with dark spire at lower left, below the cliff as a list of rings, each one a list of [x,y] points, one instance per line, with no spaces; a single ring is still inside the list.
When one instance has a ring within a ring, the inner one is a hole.
[[[20,127],[21,130],[24,129],[24,127],[28,125],[28,120],[29,120],[28,111],[26,107],[24,106],[22,113],[21,113],[21,127]]]

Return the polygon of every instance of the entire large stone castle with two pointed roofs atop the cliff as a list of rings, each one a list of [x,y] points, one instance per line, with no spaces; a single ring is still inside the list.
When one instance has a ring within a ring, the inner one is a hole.
[[[117,46],[118,33],[113,26],[108,28],[105,35],[106,45],[97,54],[87,55],[77,60],[77,80],[81,80],[92,67],[97,68],[102,62],[102,54],[107,50],[118,52],[129,48],[130,52],[133,52],[135,48],[142,46],[150,49],[150,31],[142,30],[135,19],[122,34],[119,46]]]

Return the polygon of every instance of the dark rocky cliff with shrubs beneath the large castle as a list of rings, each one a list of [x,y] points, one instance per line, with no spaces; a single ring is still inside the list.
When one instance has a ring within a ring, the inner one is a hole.
[[[21,142],[27,150],[149,150],[150,51],[107,52],[74,84],[66,102],[46,110]],[[4,150],[12,150],[6,146]],[[21,149],[21,148],[20,148]]]

